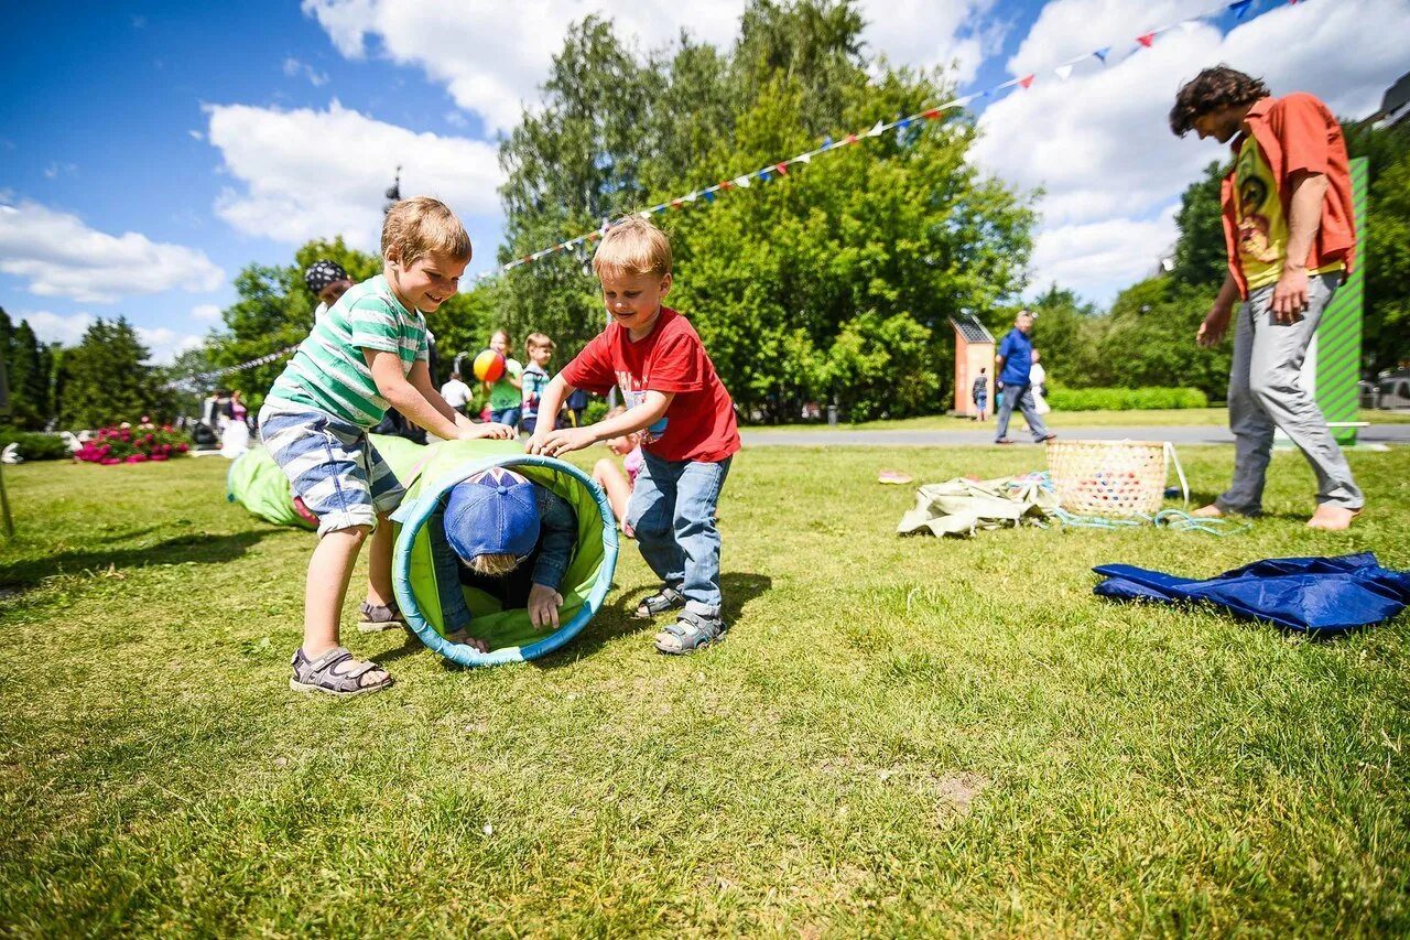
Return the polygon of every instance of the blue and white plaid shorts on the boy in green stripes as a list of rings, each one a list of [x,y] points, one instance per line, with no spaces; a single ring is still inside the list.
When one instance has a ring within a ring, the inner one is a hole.
[[[259,438],[269,456],[319,517],[319,535],[360,525],[376,528],[378,514],[406,495],[364,428],[321,411],[259,411]]]

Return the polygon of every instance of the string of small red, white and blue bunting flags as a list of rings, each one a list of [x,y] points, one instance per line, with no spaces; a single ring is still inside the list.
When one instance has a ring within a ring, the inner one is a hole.
[[[1210,8],[1210,10],[1206,10],[1204,13],[1200,13],[1200,14],[1196,14],[1193,17],[1187,17],[1184,20],[1180,20],[1177,23],[1170,23],[1170,24],[1158,27],[1155,30],[1149,30],[1146,32],[1142,32],[1142,34],[1139,34],[1139,35],[1136,35],[1135,38],[1131,40],[1132,47],[1128,47],[1128,48],[1132,48],[1134,52],[1139,52],[1141,49],[1149,49],[1149,48],[1152,48],[1155,45],[1155,41],[1156,41],[1158,37],[1160,37],[1165,32],[1169,32],[1170,30],[1180,28],[1184,32],[1193,32],[1194,30],[1197,30],[1200,27],[1201,21],[1208,20],[1211,17],[1224,16],[1225,13],[1234,14],[1234,18],[1242,23],[1242,21],[1245,21],[1248,18],[1249,11],[1253,10],[1253,7],[1256,7],[1259,4],[1273,4],[1273,3],[1277,3],[1280,6],[1282,4],[1292,6],[1292,4],[1299,3],[1299,0],[1232,0],[1232,3],[1221,1],[1218,6],[1215,6],[1215,7]],[[1062,64],[1059,64],[1056,66],[1052,66],[1050,71],[1052,71],[1053,75],[1058,76],[1059,80],[1066,82],[1067,79],[1072,78],[1072,75],[1073,75],[1073,72],[1076,71],[1077,66],[1080,66],[1084,62],[1089,62],[1090,59],[1097,59],[1103,66],[1105,66],[1108,64],[1108,59],[1110,59],[1112,51],[1114,51],[1114,47],[1104,45],[1101,48],[1091,49],[1089,52],[1083,52],[1081,55],[1074,56],[1072,59],[1067,59],[1066,62],[1062,62]],[[749,189],[753,185],[754,181],[759,181],[759,183],[766,183],[766,182],[768,182],[774,176],[780,176],[780,178],[788,176],[791,167],[795,167],[798,164],[808,165],[808,164],[812,162],[812,158],[818,157],[819,154],[826,154],[826,152],[830,152],[833,150],[840,150],[843,147],[852,147],[852,145],[860,143],[863,138],[881,137],[883,134],[885,134],[890,130],[904,131],[905,128],[908,128],[911,124],[914,124],[916,121],[933,121],[933,120],[938,120],[942,114],[945,114],[948,112],[962,109],[966,104],[969,104],[971,102],[976,102],[976,100],[980,100],[980,99],[993,97],[994,95],[997,95],[1000,92],[1004,92],[1007,89],[1028,90],[1028,89],[1031,89],[1034,86],[1034,82],[1036,82],[1038,78],[1039,78],[1039,73],[1036,73],[1036,72],[1032,72],[1032,73],[1028,73],[1028,75],[1024,75],[1024,76],[1019,76],[1019,78],[1011,78],[1007,82],[1000,82],[998,85],[993,85],[993,86],[990,86],[987,89],[983,89],[983,90],[970,92],[970,93],[963,95],[960,97],[956,97],[956,99],[952,99],[949,102],[945,102],[943,104],[936,104],[936,106],[932,106],[932,107],[926,107],[925,110],[916,112],[915,114],[901,116],[901,117],[897,117],[893,121],[878,120],[876,124],[871,126],[870,130],[864,130],[864,131],[857,131],[857,133],[853,133],[853,134],[847,134],[842,140],[833,140],[832,137],[823,137],[821,145],[818,145],[814,150],[809,150],[809,151],[805,151],[802,154],[798,154],[797,157],[790,157],[788,159],[784,159],[784,161],[780,161],[780,162],[776,162],[776,164],[768,164],[768,165],[761,167],[761,168],[759,168],[759,169],[756,169],[753,172],[740,174],[739,176],[722,179],[718,183],[713,183],[711,186],[705,186],[702,189],[691,191],[691,192],[688,192],[688,193],[685,193],[682,196],[677,196],[674,199],[667,199],[666,202],[657,203],[657,205],[650,206],[647,209],[640,209],[640,210],[636,210],[636,212],[625,213],[623,216],[620,216],[618,219],[602,219],[602,224],[598,229],[592,230],[592,231],[587,231],[584,234],[574,236],[571,239],[560,241],[558,244],[550,246],[547,248],[540,248],[539,251],[533,251],[530,254],[522,255],[519,258],[515,258],[512,261],[501,264],[499,267],[491,268],[488,271],[482,271],[481,274],[478,274],[478,275],[474,277],[474,282],[479,284],[479,282],[484,282],[484,281],[486,281],[489,278],[499,277],[499,275],[506,274],[506,272],[509,272],[509,271],[512,271],[515,268],[519,268],[519,267],[523,267],[523,265],[527,265],[527,264],[533,264],[534,261],[537,261],[537,260],[540,260],[543,257],[547,257],[550,254],[557,254],[558,251],[568,251],[568,250],[572,250],[572,248],[575,248],[578,246],[591,244],[592,241],[595,241],[595,240],[601,239],[602,236],[605,236],[612,229],[612,226],[620,224],[622,222],[625,222],[626,219],[630,219],[632,216],[640,216],[642,219],[650,219],[651,216],[663,213],[663,212],[666,212],[668,209],[675,209],[675,210],[684,209],[685,205],[694,203],[697,200],[702,200],[706,206],[711,206],[711,205],[715,203],[715,200],[719,196],[722,196],[722,195],[725,195],[728,192]],[[220,375],[227,375],[230,373],[235,373],[235,371],[240,371],[240,370],[244,370],[244,368],[254,368],[255,366],[262,366],[265,363],[274,361],[275,358],[281,358],[283,356],[288,356],[288,354],[293,353],[296,349],[298,349],[298,346],[290,346],[289,349],[279,350],[278,353],[271,353],[269,356],[264,356],[264,357],[261,357],[258,360],[251,360],[248,363],[241,363],[240,366],[231,366],[231,367],[216,370],[216,371],[212,371],[212,373],[202,373],[199,375],[196,375],[196,374],[188,375],[186,378],[179,380],[179,382],[206,381],[206,380],[219,378]]]

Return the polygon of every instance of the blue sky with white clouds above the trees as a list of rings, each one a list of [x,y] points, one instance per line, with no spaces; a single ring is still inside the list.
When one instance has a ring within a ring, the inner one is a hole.
[[[398,161],[406,192],[457,209],[471,271],[484,270],[501,230],[495,144],[532,104],[563,24],[595,8],[644,47],[681,27],[733,37],[739,0],[682,6],[540,0],[523,23],[510,4],[433,0],[14,6],[0,58],[0,306],[66,342],[87,318],[123,313],[171,356],[216,325],[243,265],[285,264],[314,234],[371,247]],[[1265,1],[1249,23],[1203,20],[1131,55],[1135,35],[1210,6],[862,4],[869,41],[895,62],[959,58],[967,89],[1039,73],[987,109],[976,161],[1048,192],[1035,287],[1056,279],[1097,301],[1155,264],[1180,188],[1220,155],[1160,133],[1182,78],[1227,59],[1275,90],[1365,113],[1406,68],[1394,37],[1410,34],[1410,0]],[[1053,76],[1108,44],[1111,65]]]

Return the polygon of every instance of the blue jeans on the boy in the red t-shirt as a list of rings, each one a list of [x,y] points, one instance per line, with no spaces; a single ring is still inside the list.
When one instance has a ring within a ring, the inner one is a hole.
[[[626,518],[642,558],[666,584],[685,596],[685,610],[719,617],[719,529],[715,505],[729,474],[719,463],[663,460],[649,450],[632,488]]]

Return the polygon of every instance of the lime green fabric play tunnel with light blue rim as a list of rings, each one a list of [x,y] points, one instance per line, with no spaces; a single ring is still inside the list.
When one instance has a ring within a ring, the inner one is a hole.
[[[392,553],[396,603],[407,627],[433,651],[464,666],[534,659],[570,642],[602,607],[616,570],[618,529],[606,495],[582,470],[553,457],[526,454],[516,440],[447,440],[422,447],[399,438],[374,436],[374,446],[407,487],[402,507],[392,517],[396,525]],[[567,500],[578,517],[578,542],[558,586],[563,607],[558,610],[560,627],[553,632],[536,629],[522,607],[506,610],[494,596],[458,586],[474,615],[471,634],[489,645],[489,652],[479,652],[448,642],[443,635],[446,624],[426,526],[457,483],[495,466],[510,467]],[[243,454],[231,466],[227,498],[269,522],[313,528],[300,518],[283,471],[262,447]]]

